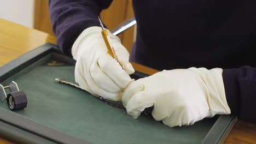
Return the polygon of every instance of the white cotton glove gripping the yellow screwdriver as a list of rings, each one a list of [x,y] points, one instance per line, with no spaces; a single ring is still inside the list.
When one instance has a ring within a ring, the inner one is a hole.
[[[129,63],[129,52],[120,39],[109,31],[122,66],[108,54],[101,31],[101,27],[86,28],[75,40],[72,46],[72,56],[77,60],[75,81],[91,94],[121,100],[123,90],[132,81],[129,74],[135,70]]]

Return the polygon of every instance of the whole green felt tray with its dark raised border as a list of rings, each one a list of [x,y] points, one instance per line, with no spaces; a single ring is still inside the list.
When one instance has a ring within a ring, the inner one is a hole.
[[[235,122],[234,115],[216,116],[169,128],[151,115],[133,119],[124,109],[54,81],[65,77],[74,82],[74,64],[46,44],[1,67],[0,83],[18,83],[28,104],[13,112],[6,101],[0,103],[0,134],[21,143],[218,143]]]

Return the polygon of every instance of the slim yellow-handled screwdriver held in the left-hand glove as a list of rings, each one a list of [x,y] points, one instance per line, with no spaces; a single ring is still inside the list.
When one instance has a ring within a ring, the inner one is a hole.
[[[105,41],[105,44],[106,44],[106,46],[107,46],[109,55],[110,55],[111,57],[113,57],[113,58],[115,59],[115,61],[117,61],[117,62],[121,65],[121,63],[120,63],[119,60],[118,60],[117,54],[115,53],[115,49],[114,49],[112,40],[111,40],[110,37],[109,37],[109,34],[108,34],[107,29],[105,29],[105,28],[103,27],[103,24],[102,24],[102,22],[101,22],[100,16],[98,16],[98,21],[100,21],[100,25],[101,25],[101,28],[102,28],[101,34],[102,34],[102,37],[103,37],[103,39],[104,39],[104,41]]]

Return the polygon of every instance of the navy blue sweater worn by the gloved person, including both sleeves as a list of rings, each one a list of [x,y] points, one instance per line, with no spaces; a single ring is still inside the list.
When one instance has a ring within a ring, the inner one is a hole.
[[[57,44],[66,55],[85,28],[99,26],[97,16],[111,2],[49,0]],[[223,68],[231,112],[256,122],[255,6],[255,0],[134,0],[137,38],[131,61],[158,70]]]

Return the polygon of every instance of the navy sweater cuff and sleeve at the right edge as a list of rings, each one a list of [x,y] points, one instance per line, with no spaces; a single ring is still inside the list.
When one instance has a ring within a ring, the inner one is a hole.
[[[224,69],[223,82],[231,113],[246,122],[256,122],[256,68]]]

